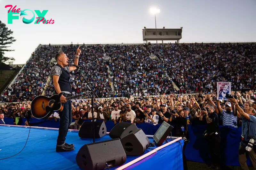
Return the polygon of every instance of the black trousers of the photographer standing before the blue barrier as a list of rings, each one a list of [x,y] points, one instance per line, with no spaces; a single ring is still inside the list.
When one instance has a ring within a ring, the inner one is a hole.
[[[206,137],[208,150],[211,157],[211,164],[213,166],[220,166],[220,134],[215,133]]]

